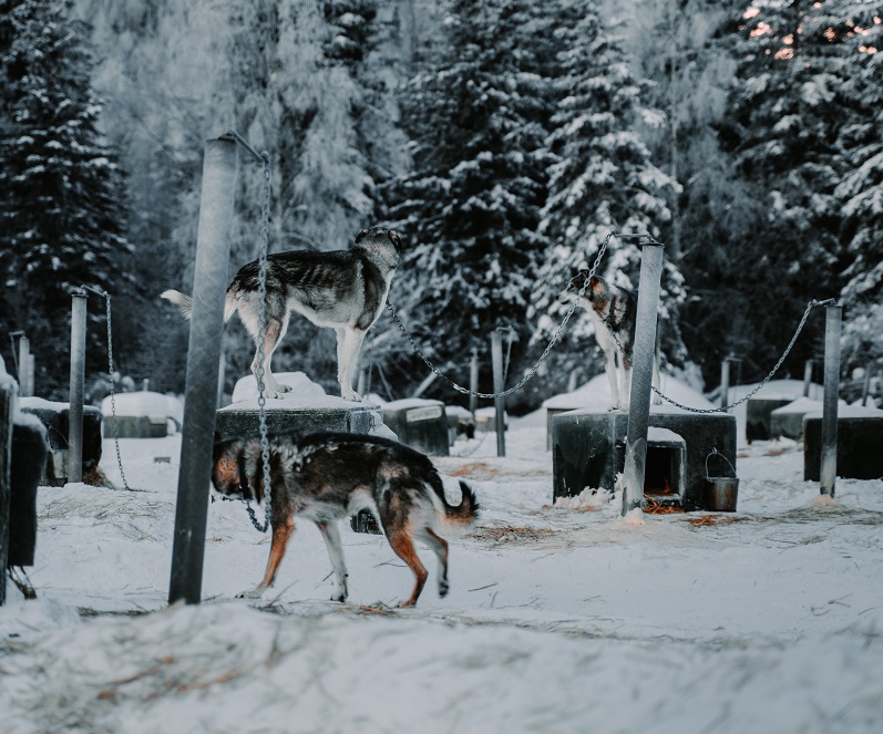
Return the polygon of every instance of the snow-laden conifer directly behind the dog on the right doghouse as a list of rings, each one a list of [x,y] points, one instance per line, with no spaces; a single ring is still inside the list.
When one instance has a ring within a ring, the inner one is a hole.
[[[556,113],[546,141],[553,163],[541,223],[551,247],[538,271],[532,308],[534,340],[541,344],[567,309],[557,297],[575,270],[595,261],[610,231],[659,237],[670,220],[668,200],[677,188],[653,163],[637,132],[643,120],[659,120],[661,114],[643,105],[641,83],[629,69],[623,38],[605,25],[598,2],[562,2],[554,39],[558,50],[552,66]],[[608,247],[597,275],[618,286],[636,286],[638,248],[617,238]],[[664,321],[670,327],[665,332],[665,351],[676,362],[685,358],[677,331],[677,304],[684,297],[682,279],[669,261],[661,303]],[[573,369],[587,363],[585,340],[592,322],[578,311],[574,321],[548,371],[550,379],[558,375],[561,383]]]

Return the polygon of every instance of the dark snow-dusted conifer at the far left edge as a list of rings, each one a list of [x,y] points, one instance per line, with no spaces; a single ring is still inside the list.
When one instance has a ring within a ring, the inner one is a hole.
[[[68,351],[69,289],[127,286],[131,255],[123,177],[99,132],[86,29],[70,9],[4,2],[0,31],[0,309],[3,322],[28,332],[47,393],[66,384],[69,365],[50,354]],[[90,317],[88,368],[106,370],[103,308]]]

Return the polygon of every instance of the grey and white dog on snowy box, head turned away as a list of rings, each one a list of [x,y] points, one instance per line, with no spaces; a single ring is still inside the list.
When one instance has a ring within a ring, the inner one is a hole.
[[[289,392],[270,371],[273,352],[288,330],[291,311],[305,316],[317,327],[337,332],[337,379],[343,400],[360,402],[352,390],[362,340],[377,321],[389,293],[392,276],[399,265],[401,240],[392,229],[362,229],[347,250],[319,252],[294,250],[267,256],[267,298],[265,306],[264,384],[267,397]],[[255,260],[244,265],[227,288],[224,304],[225,323],[239,313],[245,328],[258,344],[258,272]],[[193,299],[176,290],[162,298],[191,317]],[[251,362],[257,380],[258,353]]]

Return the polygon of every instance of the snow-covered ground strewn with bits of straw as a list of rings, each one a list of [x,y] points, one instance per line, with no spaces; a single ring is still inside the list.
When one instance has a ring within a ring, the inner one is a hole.
[[[122,440],[138,492],[39,495],[39,599],[0,608],[0,732],[881,732],[883,480],[802,480],[793,442],[740,449],[738,513],[551,506],[542,416],[435,459],[478,528],[451,593],[384,539],[342,539],[347,604],[300,524],[274,593],[267,536],[214,503],[204,602],[167,608],[179,436]],[[112,441],[103,469],[121,485]],[[168,463],[165,463],[165,459]],[[158,459],[158,462],[157,462]]]

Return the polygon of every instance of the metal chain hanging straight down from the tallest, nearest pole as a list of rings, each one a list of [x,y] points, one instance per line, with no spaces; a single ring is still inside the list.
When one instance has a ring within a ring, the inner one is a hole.
[[[243,144],[242,138],[236,136]],[[270,526],[273,494],[270,478],[270,448],[267,437],[267,396],[264,384],[264,339],[267,331],[266,300],[267,300],[267,251],[269,250],[269,223],[270,223],[270,156],[264,151],[260,154],[264,162],[264,204],[260,211],[260,255],[258,257],[258,337],[257,337],[257,406],[258,425],[260,431],[260,458],[264,471],[264,524],[258,523],[250,500],[246,499],[245,507],[251,525],[258,533],[266,533]]]

